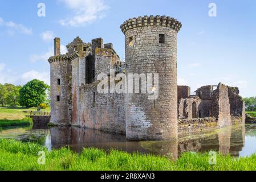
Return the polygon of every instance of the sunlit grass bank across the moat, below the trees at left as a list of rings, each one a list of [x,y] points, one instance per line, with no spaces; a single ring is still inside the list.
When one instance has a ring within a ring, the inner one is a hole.
[[[23,108],[23,107],[0,107],[0,119],[23,119],[30,111],[36,111],[37,107]],[[41,111],[50,111],[50,108],[42,109]],[[27,112],[27,113],[25,113]]]

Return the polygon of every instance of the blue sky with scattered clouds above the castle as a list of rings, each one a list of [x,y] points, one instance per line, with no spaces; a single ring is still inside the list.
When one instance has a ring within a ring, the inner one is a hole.
[[[209,15],[212,10],[216,16]],[[1,0],[0,82],[24,85],[38,78],[50,84],[47,59],[54,54],[54,37],[61,39],[62,53],[76,36],[84,42],[101,37],[124,58],[120,25],[144,15],[172,16],[182,23],[179,85],[194,91],[222,82],[238,86],[243,97],[256,96],[255,0]]]

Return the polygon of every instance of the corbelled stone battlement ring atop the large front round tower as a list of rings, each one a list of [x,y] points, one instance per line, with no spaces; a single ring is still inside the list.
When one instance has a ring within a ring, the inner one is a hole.
[[[144,26],[161,26],[170,27],[175,31],[180,31],[182,24],[177,19],[170,18],[170,16],[139,16],[138,18],[130,18],[126,20],[121,26],[122,32],[125,34],[130,29]]]

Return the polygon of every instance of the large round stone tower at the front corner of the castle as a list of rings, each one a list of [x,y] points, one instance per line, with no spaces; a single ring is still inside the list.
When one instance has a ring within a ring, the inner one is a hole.
[[[159,15],[139,16],[121,25],[127,77],[144,73],[152,74],[153,80],[154,73],[159,75],[158,88],[152,86],[152,91],[158,90],[155,99],[149,100],[148,92],[126,95],[127,139],[177,138],[177,32],[180,28],[181,23],[176,19]]]

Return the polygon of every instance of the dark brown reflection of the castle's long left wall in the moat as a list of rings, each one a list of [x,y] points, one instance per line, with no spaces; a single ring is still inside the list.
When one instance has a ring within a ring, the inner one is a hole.
[[[51,128],[51,145],[53,148],[70,146],[74,151],[82,151],[83,147],[97,147],[108,150],[118,150],[147,153],[140,142],[128,142],[124,135],[104,133],[98,130],[82,129],[78,127]]]

